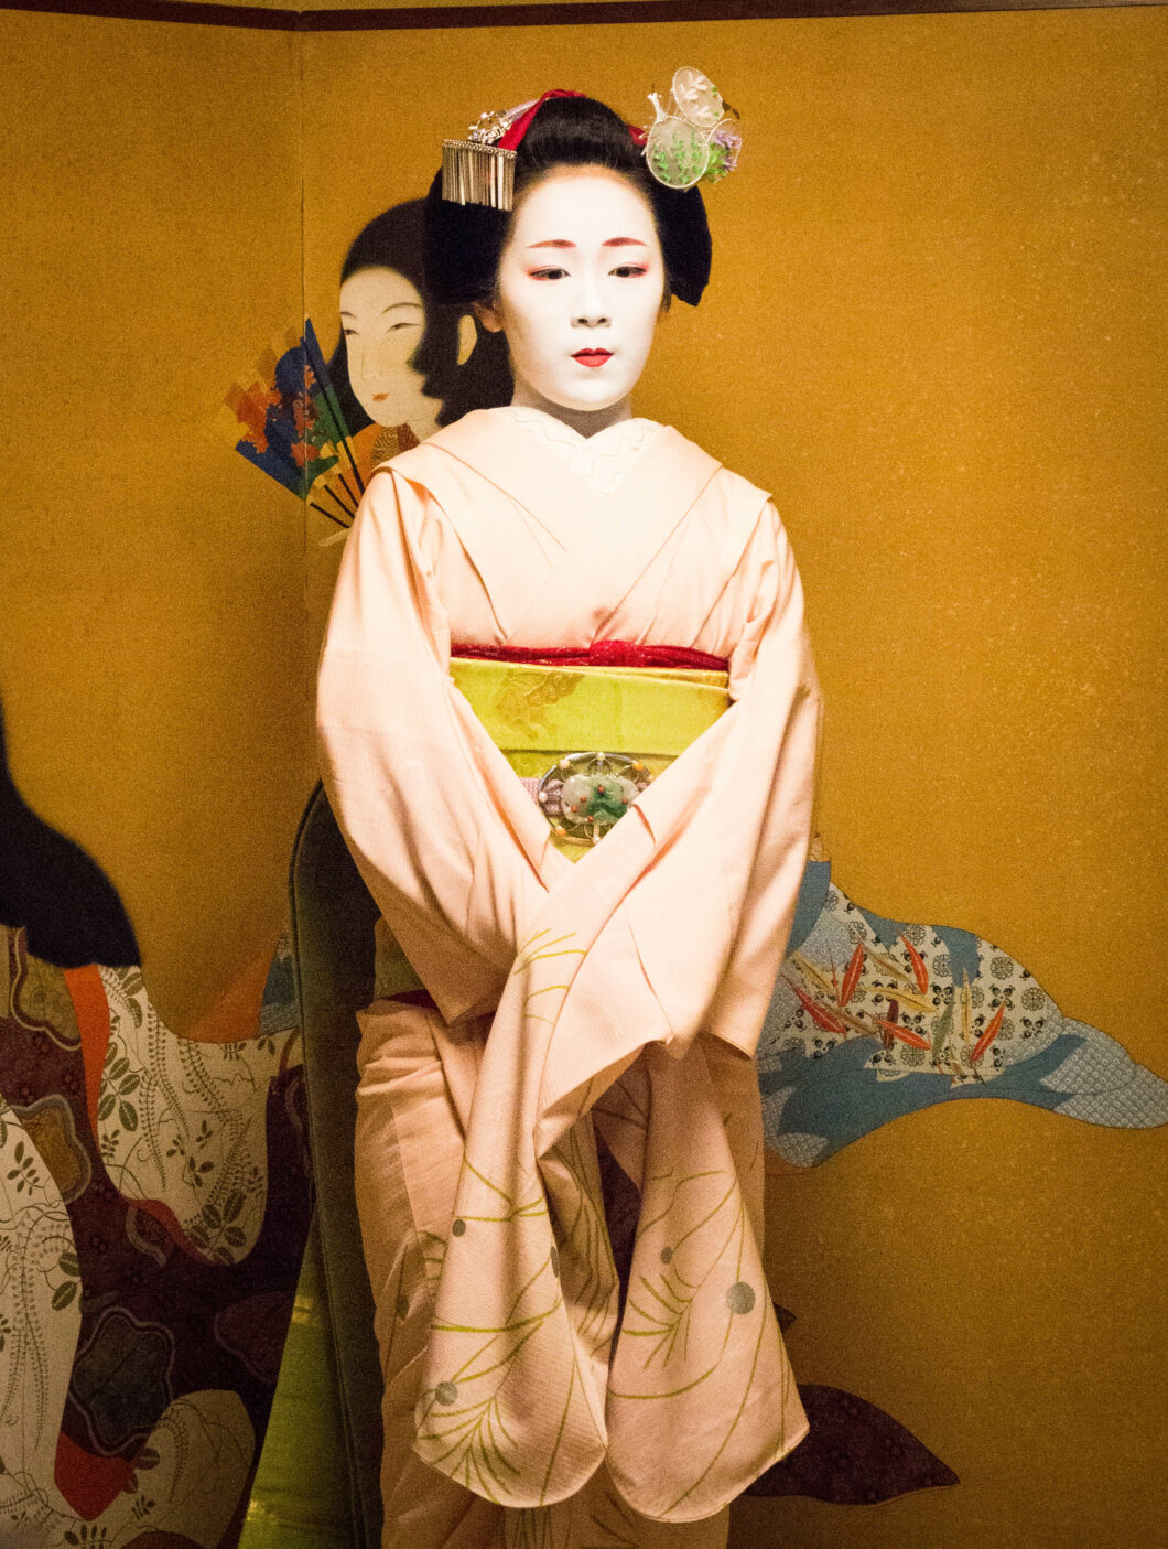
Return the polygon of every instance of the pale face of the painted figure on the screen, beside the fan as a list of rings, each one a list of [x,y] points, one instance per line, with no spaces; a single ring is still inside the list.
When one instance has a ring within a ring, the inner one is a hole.
[[[423,373],[411,366],[426,331],[417,287],[397,270],[358,270],[341,287],[341,331],[353,397],[369,418],[412,424],[420,438],[421,426],[432,431],[440,400],[423,393]]]

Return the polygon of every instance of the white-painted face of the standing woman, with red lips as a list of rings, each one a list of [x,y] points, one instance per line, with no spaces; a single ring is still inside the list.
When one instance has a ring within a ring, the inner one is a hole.
[[[630,412],[663,291],[649,204],[624,178],[581,167],[524,197],[496,299],[476,310],[507,335],[513,401],[589,434]]]

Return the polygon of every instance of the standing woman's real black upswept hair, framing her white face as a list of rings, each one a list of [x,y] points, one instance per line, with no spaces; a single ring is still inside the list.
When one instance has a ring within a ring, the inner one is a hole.
[[[606,167],[649,201],[661,242],[669,293],[696,307],[709,280],[711,242],[696,187],[668,189],[649,173],[629,125],[593,98],[548,98],[516,150],[514,197],[556,167]],[[511,215],[441,197],[441,173],[426,197],[426,276],[443,302],[466,305],[494,293]]]

